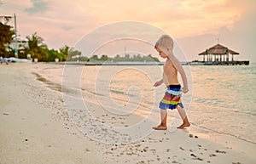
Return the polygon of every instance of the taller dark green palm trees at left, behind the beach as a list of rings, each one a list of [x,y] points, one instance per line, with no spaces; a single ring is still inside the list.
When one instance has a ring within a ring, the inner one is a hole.
[[[11,46],[15,42],[15,31],[12,26],[0,22],[0,56],[3,58],[15,57],[15,48]],[[32,59],[38,61],[66,61],[68,54],[79,54],[79,51],[65,45],[64,47],[56,50],[49,49],[44,43],[44,39],[38,36],[35,32],[32,36],[26,36],[26,40],[19,40],[17,42],[18,56],[20,59],[26,59],[30,54]]]

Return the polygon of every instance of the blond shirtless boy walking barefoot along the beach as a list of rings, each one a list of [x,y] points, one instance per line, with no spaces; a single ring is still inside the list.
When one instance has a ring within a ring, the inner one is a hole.
[[[163,35],[160,39],[155,43],[154,48],[159,53],[159,55],[166,59],[164,65],[163,78],[154,83],[154,87],[160,86],[162,83],[165,83],[167,86],[167,90],[164,98],[160,101],[160,116],[161,122],[157,127],[153,127],[155,130],[166,130],[166,121],[167,121],[167,109],[177,109],[179,115],[183,119],[183,124],[177,128],[189,127],[189,119],[186,116],[185,111],[183,110],[183,104],[181,103],[181,94],[189,92],[187,77],[185,75],[185,71],[183,70],[182,65],[179,63],[177,58],[174,56],[173,49],[173,41],[172,37],[167,35]],[[178,80],[177,80],[177,72],[180,73],[183,80],[183,88],[181,88]]]

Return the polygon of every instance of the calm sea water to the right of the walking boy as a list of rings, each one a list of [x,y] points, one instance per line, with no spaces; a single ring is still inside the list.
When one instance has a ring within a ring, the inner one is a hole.
[[[196,126],[256,143],[256,65],[191,66]]]

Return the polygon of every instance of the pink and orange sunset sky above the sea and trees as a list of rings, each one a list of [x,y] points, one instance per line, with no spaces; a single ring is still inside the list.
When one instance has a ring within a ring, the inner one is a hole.
[[[236,59],[255,62],[255,11],[254,0],[0,0],[0,16],[16,14],[21,39],[38,32],[49,48],[76,47],[84,36],[104,25],[135,21],[172,36],[187,60],[201,59],[198,54],[219,41],[240,53]],[[14,25],[14,22],[9,24]],[[113,26],[108,35],[117,31],[125,33],[125,26],[121,28]],[[135,32],[147,33],[147,30]],[[130,51],[130,44],[127,47],[120,42],[115,47],[111,47],[113,42],[106,45],[102,49],[121,47],[116,50],[119,52],[125,47]],[[137,48],[138,45],[142,42]],[[108,53],[102,49],[98,48],[97,53]],[[131,51],[135,49],[136,46]],[[143,53],[157,55],[154,48]]]

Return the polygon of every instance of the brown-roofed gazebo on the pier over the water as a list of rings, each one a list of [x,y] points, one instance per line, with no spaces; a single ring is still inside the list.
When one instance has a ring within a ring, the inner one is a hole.
[[[239,53],[236,53],[236,51],[233,51],[229,48],[224,47],[223,45],[220,45],[219,43],[212,48],[208,48],[206,51],[202,52],[198,55],[203,55],[203,62],[215,62],[215,63],[221,63],[221,62],[230,62],[230,54],[232,55],[231,62],[234,61],[234,55],[238,55]],[[207,60],[206,60],[207,57]]]

